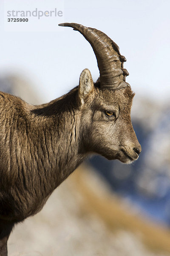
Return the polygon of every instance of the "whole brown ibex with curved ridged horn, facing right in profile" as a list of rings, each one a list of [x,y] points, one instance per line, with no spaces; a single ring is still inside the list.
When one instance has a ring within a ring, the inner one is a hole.
[[[54,189],[91,153],[131,163],[139,144],[130,119],[134,93],[125,57],[103,32],[76,23],[91,44],[100,77],[88,69],[79,86],[58,99],[29,105],[0,93],[0,256],[14,224],[39,212]]]

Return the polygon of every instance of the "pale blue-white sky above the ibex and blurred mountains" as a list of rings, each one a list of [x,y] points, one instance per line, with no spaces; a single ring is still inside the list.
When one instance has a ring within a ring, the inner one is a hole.
[[[48,1],[49,9],[55,2]],[[84,68],[96,81],[96,58],[81,34],[66,27],[56,32],[6,32],[2,2],[0,7],[0,76],[23,76],[45,101],[77,85]],[[63,14],[65,22],[102,30],[119,45],[130,73],[126,80],[136,95],[165,101],[170,96],[169,9],[168,0],[65,0]]]

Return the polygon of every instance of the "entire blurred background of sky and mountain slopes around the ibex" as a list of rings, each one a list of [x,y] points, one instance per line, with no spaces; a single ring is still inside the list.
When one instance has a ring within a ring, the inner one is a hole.
[[[127,58],[142,153],[131,165],[99,156],[83,163],[15,227],[9,256],[170,255],[169,9],[168,0],[64,1],[65,22],[102,30]],[[31,104],[67,93],[84,68],[99,76],[90,44],[71,28],[6,32],[2,21],[0,32],[0,90]]]

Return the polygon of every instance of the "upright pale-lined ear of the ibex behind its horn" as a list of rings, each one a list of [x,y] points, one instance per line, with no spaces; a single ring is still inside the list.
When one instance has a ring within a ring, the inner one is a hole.
[[[83,105],[88,99],[92,99],[94,95],[94,83],[90,71],[86,68],[82,71],[79,78],[79,102]]]

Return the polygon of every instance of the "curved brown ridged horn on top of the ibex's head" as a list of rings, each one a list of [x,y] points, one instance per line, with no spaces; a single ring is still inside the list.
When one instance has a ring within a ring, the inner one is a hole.
[[[99,67],[101,89],[113,90],[129,86],[125,81],[129,73],[123,68],[126,58],[120,54],[119,47],[111,38],[97,29],[77,23],[61,23],[59,26],[72,27],[91,44]]]

